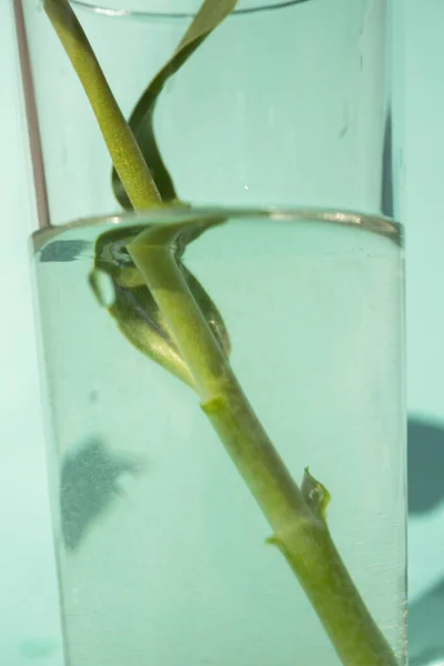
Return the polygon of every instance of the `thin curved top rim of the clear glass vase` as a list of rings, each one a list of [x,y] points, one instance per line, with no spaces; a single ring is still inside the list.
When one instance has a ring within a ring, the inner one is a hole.
[[[137,10],[137,9],[118,9],[107,7],[107,0],[98,0],[98,4],[91,2],[90,0],[69,0],[70,4],[73,7],[80,7],[82,9],[88,9],[97,14],[101,14],[109,18],[155,18],[155,19],[191,19],[195,16],[195,11],[145,11],[145,10]],[[124,0],[121,0],[122,3]],[[231,16],[245,16],[251,13],[256,13],[260,11],[273,11],[275,9],[285,9],[287,7],[293,7],[294,4],[301,4],[303,2],[307,2],[309,0],[278,0],[278,2],[271,2],[271,0],[256,0],[258,4],[254,7],[244,7],[234,9],[231,12]]]

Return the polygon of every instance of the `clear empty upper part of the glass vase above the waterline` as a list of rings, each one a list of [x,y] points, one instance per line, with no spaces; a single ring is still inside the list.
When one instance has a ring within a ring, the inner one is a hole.
[[[41,224],[113,212],[111,160],[88,99],[42,0],[22,3],[34,161],[46,178]],[[129,118],[201,0],[71,4]],[[390,7],[239,0],[157,104],[155,134],[180,198],[392,214]]]

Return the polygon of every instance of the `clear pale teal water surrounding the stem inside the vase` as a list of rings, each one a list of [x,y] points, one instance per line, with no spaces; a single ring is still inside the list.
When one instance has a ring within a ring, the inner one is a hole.
[[[67,664],[336,666],[195,394],[98,302],[89,275],[108,229],[65,231],[62,252],[47,244],[36,258]],[[291,473],[300,482],[310,465],[329,488],[334,541],[405,664],[396,238],[240,218],[194,241],[185,262]]]

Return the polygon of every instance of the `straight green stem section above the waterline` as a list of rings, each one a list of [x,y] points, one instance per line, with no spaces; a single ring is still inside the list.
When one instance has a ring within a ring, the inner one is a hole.
[[[69,1],[44,0],[44,10],[84,88],[133,208],[159,205],[154,180]]]

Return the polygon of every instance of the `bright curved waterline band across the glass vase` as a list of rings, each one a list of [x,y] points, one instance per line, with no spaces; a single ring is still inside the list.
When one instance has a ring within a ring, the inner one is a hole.
[[[105,215],[80,218],[72,222],[46,226],[32,233],[32,245],[38,252],[47,242],[65,231],[75,231],[91,226],[144,226],[147,224],[168,224],[211,219],[269,220],[270,222],[322,222],[351,226],[392,240],[403,246],[403,229],[392,218],[360,213],[347,210],[323,208],[235,208],[235,206],[190,206],[163,205],[145,211],[118,212]]]

